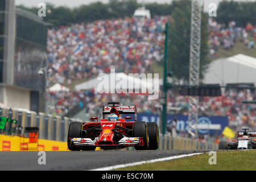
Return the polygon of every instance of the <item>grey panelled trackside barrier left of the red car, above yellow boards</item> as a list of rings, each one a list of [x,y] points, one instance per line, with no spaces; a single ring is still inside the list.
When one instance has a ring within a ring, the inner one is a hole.
[[[56,115],[9,107],[0,107],[0,117],[6,120],[3,122],[0,120],[0,134],[2,135],[28,137],[28,134],[24,133],[25,127],[38,127],[39,139],[63,142],[67,141],[69,123],[82,122],[81,119],[61,118]]]

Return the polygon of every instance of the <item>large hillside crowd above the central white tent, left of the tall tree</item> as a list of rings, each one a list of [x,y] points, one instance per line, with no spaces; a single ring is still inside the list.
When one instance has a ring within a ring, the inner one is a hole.
[[[48,31],[49,79],[73,80],[109,73],[154,72],[152,63],[163,56],[167,17],[96,20]]]

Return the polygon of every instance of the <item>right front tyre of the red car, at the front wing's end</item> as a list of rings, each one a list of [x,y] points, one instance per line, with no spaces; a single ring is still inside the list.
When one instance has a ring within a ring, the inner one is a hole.
[[[133,137],[143,137],[144,146],[134,146],[135,150],[148,149],[148,131],[147,123],[144,121],[135,122],[133,124]]]

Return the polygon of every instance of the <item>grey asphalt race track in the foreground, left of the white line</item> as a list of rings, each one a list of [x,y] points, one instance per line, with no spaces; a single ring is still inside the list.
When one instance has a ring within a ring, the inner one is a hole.
[[[38,159],[40,158],[38,151],[0,152],[0,170],[90,170],[196,152],[207,151],[46,151],[46,165],[38,164]]]

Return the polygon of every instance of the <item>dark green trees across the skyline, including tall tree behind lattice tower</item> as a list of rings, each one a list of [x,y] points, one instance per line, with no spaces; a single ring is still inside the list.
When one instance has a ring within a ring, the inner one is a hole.
[[[46,22],[53,26],[68,26],[73,23],[87,23],[99,19],[117,19],[133,16],[133,13],[142,4],[137,0],[110,0],[109,3],[94,2],[73,9],[65,6],[55,7],[47,4]],[[38,8],[20,8],[37,14]],[[170,4],[146,3],[145,8],[150,10],[151,17],[155,15],[170,15],[168,46],[168,70],[174,72],[177,80],[188,82],[189,78],[189,44],[191,28],[191,0],[175,0]],[[49,11],[50,10],[50,11]],[[202,7],[203,10],[203,7]],[[214,18],[218,23],[234,20],[237,26],[246,26],[247,22],[256,24],[256,2],[222,1],[217,8],[217,16]],[[201,22],[201,53],[200,53],[200,78],[210,64],[208,13],[202,11]],[[181,66],[182,65],[182,66]]]

